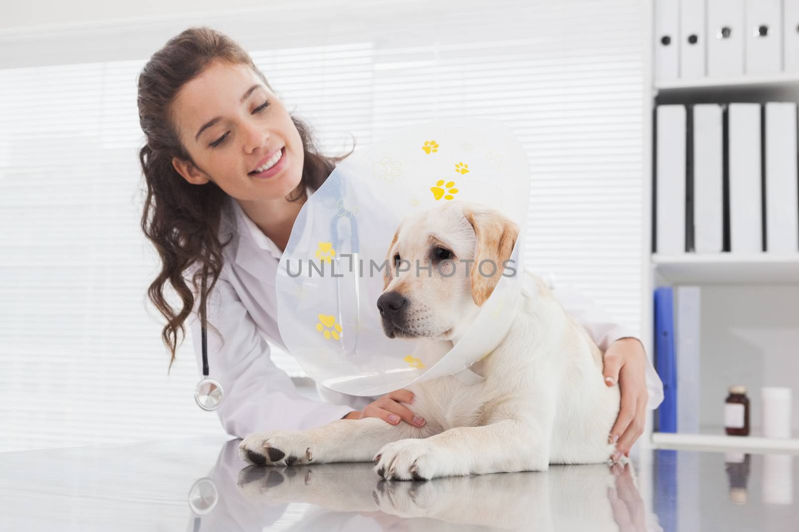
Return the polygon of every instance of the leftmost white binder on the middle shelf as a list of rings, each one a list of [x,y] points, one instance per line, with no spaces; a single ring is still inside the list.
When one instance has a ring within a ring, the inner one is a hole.
[[[658,105],[655,167],[655,247],[660,254],[686,250],[686,108]]]

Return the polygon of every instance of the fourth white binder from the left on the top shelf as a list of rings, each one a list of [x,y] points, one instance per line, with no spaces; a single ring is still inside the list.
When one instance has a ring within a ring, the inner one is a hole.
[[[745,71],[777,73],[782,69],[781,0],[745,0]],[[796,29],[793,30],[794,33]]]

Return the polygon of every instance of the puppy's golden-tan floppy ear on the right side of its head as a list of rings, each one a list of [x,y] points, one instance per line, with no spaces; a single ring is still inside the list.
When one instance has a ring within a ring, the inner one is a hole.
[[[471,298],[475,300],[475,305],[480,306],[488,299],[499,279],[502,278],[503,262],[511,258],[513,245],[516,238],[519,237],[519,226],[497,211],[479,211],[472,207],[465,207],[463,216],[471,223],[477,237],[475,262],[471,265],[469,276]],[[483,268],[483,271],[487,273],[494,271],[490,277],[480,273],[480,262],[486,259],[493,262],[493,266],[486,264]],[[496,267],[494,268],[494,266]]]

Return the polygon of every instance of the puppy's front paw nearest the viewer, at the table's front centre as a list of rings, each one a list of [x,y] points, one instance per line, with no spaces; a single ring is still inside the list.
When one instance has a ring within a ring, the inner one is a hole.
[[[386,480],[429,480],[468,475],[458,459],[447,456],[427,439],[400,439],[386,443],[374,459],[375,471]]]

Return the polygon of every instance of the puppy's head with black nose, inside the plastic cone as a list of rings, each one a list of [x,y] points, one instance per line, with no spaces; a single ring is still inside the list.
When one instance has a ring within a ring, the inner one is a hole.
[[[447,202],[404,219],[377,300],[384,333],[462,336],[506,271],[518,236],[511,219],[475,203]]]

